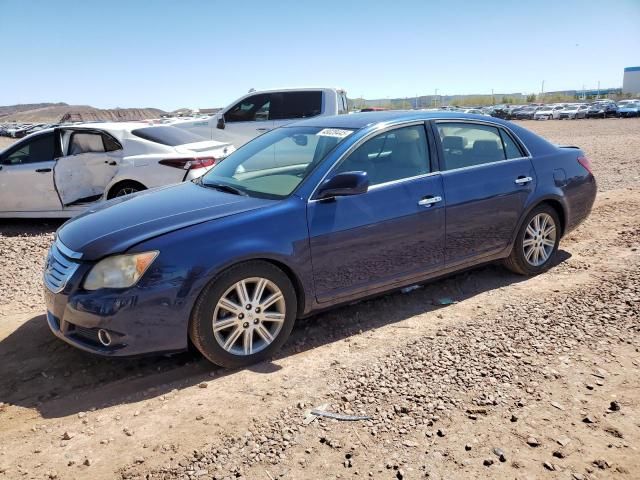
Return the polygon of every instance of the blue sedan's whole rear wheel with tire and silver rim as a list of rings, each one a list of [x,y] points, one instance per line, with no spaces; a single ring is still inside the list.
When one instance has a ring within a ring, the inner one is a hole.
[[[520,275],[537,275],[551,267],[560,243],[560,219],[548,205],[540,205],[525,218],[505,266]]]

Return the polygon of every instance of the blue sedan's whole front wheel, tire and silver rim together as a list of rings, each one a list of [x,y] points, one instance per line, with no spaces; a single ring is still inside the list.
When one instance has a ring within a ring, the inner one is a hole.
[[[238,264],[205,287],[189,337],[209,361],[227,368],[260,362],[287,340],[297,299],[289,277],[264,261]]]

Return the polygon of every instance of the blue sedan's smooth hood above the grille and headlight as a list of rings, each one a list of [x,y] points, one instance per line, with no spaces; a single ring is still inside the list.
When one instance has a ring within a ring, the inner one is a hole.
[[[83,260],[97,260],[158,235],[274,202],[185,182],[104,202],[65,223],[57,235]]]

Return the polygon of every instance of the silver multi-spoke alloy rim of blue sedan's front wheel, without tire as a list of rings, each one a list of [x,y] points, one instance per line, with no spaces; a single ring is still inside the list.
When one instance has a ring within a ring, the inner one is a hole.
[[[233,355],[252,355],[267,348],[285,321],[286,304],[278,286],[261,277],[240,280],[228,288],[213,312],[218,345]]]

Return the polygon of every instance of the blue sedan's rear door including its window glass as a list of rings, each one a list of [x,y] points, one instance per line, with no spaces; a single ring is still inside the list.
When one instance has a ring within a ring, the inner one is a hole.
[[[530,157],[494,124],[434,124],[446,206],[447,265],[509,246],[536,185]]]

